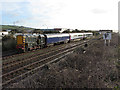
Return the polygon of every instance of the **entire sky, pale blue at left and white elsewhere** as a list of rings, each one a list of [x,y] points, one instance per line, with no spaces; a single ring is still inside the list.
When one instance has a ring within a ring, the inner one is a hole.
[[[1,0],[1,25],[118,30],[119,0]]]

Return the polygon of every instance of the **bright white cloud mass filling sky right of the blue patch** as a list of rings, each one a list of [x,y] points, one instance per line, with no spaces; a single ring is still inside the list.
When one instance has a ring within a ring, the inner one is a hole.
[[[46,24],[53,28],[80,29],[114,28],[116,26],[112,24],[116,19],[112,17],[116,16],[115,5],[117,3],[113,1],[110,0],[108,3],[108,0],[30,0],[28,8],[32,18],[26,25],[41,27]]]

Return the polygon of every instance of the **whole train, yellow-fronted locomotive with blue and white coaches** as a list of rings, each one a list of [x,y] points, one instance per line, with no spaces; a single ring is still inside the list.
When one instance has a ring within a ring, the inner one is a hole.
[[[16,49],[18,52],[26,52],[58,43],[84,40],[91,36],[93,36],[93,33],[20,34],[16,36]]]

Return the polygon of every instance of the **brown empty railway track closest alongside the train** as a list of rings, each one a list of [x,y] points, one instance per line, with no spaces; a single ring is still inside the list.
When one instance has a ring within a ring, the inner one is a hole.
[[[69,43],[67,45],[70,45],[72,43]],[[53,48],[44,48],[44,49],[40,49],[38,51],[32,51],[32,52],[27,52],[27,53],[23,53],[23,54],[19,54],[19,55],[14,55],[14,56],[11,56],[9,58],[4,58],[3,59],[3,67],[6,66],[6,65],[10,65],[10,64],[13,64],[15,63],[16,61],[24,61],[25,59],[28,59],[28,58],[31,58],[31,57],[34,57],[36,55],[44,55],[45,53],[51,53],[51,52],[54,52],[54,51],[57,51],[57,49],[62,49],[63,47],[65,47],[65,45],[57,45],[57,46],[54,46]]]

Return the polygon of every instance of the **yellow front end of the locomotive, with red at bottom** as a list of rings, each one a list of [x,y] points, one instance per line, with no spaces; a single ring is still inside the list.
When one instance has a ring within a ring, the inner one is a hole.
[[[21,51],[25,51],[25,36],[24,35],[18,35],[17,36],[17,46],[16,46],[17,50],[19,52]]]

